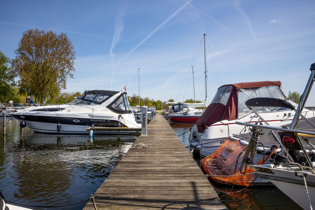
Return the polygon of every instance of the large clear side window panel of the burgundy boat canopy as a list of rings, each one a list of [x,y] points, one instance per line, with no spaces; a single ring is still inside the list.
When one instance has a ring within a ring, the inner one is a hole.
[[[286,100],[286,97],[278,86],[260,87],[260,88],[243,88],[238,90],[238,118],[248,115],[252,111],[245,105],[248,99],[252,98],[277,98]],[[282,111],[286,108],[281,107],[252,107],[255,111]]]

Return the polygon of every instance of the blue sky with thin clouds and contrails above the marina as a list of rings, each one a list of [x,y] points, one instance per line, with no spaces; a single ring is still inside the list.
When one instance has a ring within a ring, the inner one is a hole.
[[[24,31],[64,32],[76,48],[67,92],[122,90],[177,101],[204,99],[207,34],[208,99],[223,84],[278,81],[302,93],[315,62],[314,1],[5,1],[0,50],[14,58]],[[210,49],[212,56],[210,55]],[[195,60],[195,54],[198,57]],[[211,60],[211,57],[213,60]],[[141,79],[142,80],[142,79]],[[315,106],[314,91],[308,106]]]

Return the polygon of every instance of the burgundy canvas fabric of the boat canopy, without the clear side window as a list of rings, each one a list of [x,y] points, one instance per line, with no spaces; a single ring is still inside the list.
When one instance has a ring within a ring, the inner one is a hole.
[[[207,127],[222,120],[235,120],[238,117],[238,89],[241,88],[260,88],[268,86],[281,86],[280,81],[262,82],[241,82],[236,84],[222,85],[222,87],[232,86],[231,94],[226,105],[212,101],[203,115],[197,120],[197,128],[202,133]],[[218,90],[220,89],[218,88]]]

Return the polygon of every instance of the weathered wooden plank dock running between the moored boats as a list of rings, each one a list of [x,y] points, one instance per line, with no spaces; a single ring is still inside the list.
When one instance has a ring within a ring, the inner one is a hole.
[[[143,143],[151,148],[137,149]],[[98,209],[227,209],[161,114],[94,194]],[[83,209],[94,209],[90,200]]]

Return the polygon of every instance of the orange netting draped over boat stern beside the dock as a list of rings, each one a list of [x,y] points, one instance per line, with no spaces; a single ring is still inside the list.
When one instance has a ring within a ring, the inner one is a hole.
[[[239,171],[240,164],[235,165],[242,162],[246,148],[247,145],[242,145],[239,140],[227,138],[213,155],[201,160],[203,170],[207,174],[213,174],[214,176],[210,177],[216,182],[248,186],[255,178],[254,170],[245,165],[243,175]],[[265,155],[265,158],[264,155],[257,154],[253,162],[262,164],[271,154]]]

